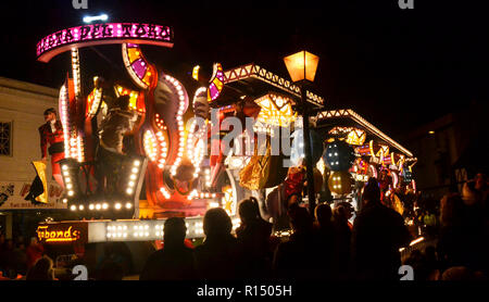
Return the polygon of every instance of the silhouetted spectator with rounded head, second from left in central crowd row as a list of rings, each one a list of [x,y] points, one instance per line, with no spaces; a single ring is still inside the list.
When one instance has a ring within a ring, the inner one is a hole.
[[[197,269],[203,279],[236,279],[241,277],[241,249],[230,234],[233,223],[226,211],[214,207],[203,218],[205,239],[196,248]]]

